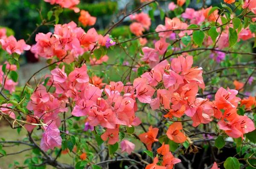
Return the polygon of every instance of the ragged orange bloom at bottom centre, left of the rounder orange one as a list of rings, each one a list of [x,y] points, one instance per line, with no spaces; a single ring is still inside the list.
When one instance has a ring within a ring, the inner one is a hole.
[[[157,140],[158,130],[159,129],[152,128],[152,126],[150,126],[148,128],[148,132],[142,133],[139,135],[140,140],[147,145],[148,150],[152,150],[151,149],[152,143],[158,141]]]

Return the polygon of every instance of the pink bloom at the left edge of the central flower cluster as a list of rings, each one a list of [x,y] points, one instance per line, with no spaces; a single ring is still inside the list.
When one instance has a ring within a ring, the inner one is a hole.
[[[81,99],[74,107],[71,115],[76,117],[86,116],[93,104],[94,102],[92,100]]]

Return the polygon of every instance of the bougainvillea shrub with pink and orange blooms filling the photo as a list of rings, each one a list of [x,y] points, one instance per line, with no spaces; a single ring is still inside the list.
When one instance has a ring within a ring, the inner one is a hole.
[[[79,0],[44,1],[56,6],[38,27],[55,22],[53,33],[36,34],[36,43],[29,46],[29,39],[17,41],[0,29],[6,51],[0,69],[0,120],[18,133],[27,131],[18,141],[1,136],[0,158],[12,155],[5,146],[19,143],[31,147],[24,151],[33,151],[16,168],[100,169],[116,162],[119,168],[256,168],[256,100],[247,88],[256,69],[256,54],[248,52],[256,31],[253,0],[199,10],[177,0],[169,3],[169,11],[158,0],[140,0],[139,9],[125,10],[105,34],[94,28],[84,31],[73,21],[58,24],[63,8],[80,11]],[[142,8],[151,10],[147,14]],[[164,25],[146,34],[157,8]],[[96,23],[88,11],[80,14],[84,27]],[[125,18],[131,20],[135,37],[111,36]],[[244,45],[246,52],[241,52]],[[27,50],[47,59],[48,65],[35,74],[43,69],[50,74],[35,78],[32,85],[33,74],[20,94],[13,94],[19,55]],[[113,63],[117,50],[126,57]],[[119,80],[110,80],[110,67]],[[222,151],[225,158],[218,157]],[[73,163],[59,162],[61,154],[69,154]],[[194,163],[198,154],[200,162]]]

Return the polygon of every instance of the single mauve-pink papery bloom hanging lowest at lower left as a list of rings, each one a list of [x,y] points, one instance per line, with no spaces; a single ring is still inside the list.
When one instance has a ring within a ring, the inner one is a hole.
[[[40,147],[44,151],[48,149],[54,149],[54,147],[61,146],[61,135],[58,128],[50,124],[48,127],[44,127],[45,132],[42,134],[42,140]]]

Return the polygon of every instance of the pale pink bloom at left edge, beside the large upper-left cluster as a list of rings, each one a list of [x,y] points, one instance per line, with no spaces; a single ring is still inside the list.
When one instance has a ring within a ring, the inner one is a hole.
[[[3,50],[8,52],[9,54],[21,54],[24,50],[29,51],[29,49],[31,48],[31,46],[26,45],[23,39],[17,41],[12,35],[5,39],[0,39],[0,43],[2,44]]]

